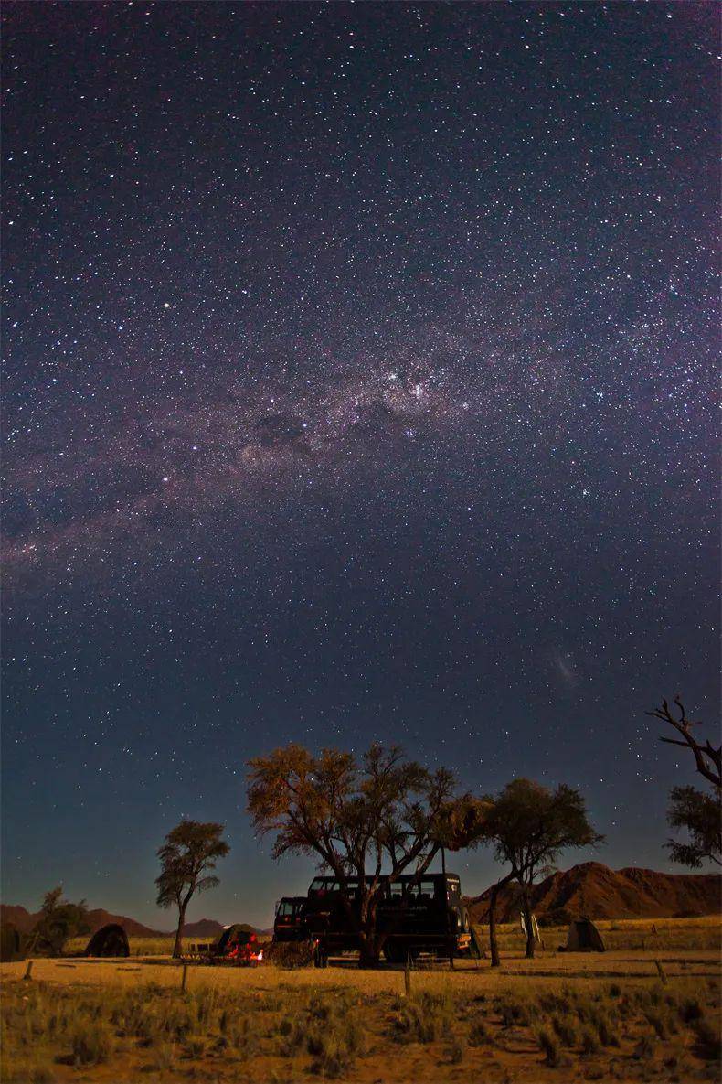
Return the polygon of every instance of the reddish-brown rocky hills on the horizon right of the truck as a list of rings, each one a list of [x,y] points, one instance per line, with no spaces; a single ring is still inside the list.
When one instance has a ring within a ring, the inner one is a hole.
[[[489,911],[488,888],[468,898],[475,922],[485,922]],[[722,876],[719,874],[660,874],[654,869],[609,869],[601,862],[583,862],[566,872],[551,874],[530,892],[537,915],[565,911],[590,918],[673,918],[716,915],[722,911]],[[497,920],[518,918],[518,893],[507,886],[497,901]]]

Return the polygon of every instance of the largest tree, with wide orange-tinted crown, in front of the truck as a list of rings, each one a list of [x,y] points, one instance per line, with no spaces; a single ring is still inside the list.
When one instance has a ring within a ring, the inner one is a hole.
[[[314,757],[291,744],[249,761],[248,812],[257,831],[275,835],[275,859],[309,854],[332,872],[360,966],[375,967],[385,940],[377,931],[384,864],[392,878],[419,878],[443,844],[463,846],[472,834],[470,805],[455,816],[455,788],[446,769],[430,773],[396,746],[373,745],[359,764],[350,752]]]

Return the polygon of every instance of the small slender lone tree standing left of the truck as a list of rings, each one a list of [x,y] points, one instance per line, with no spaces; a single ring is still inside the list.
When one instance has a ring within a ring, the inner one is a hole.
[[[209,870],[215,869],[219,859],[225,857],[231,850],[225,840],[221,839],[224,825],[198,821],[181,821],[166,836],[166,842],[158,850],[160,859],[160,876],[156,878],[158,886],[158,906],[178,907],[178,930],[173,956],[181,955],[181,941],[185,912],[194,892],[206,892],[215,888],[218,877]]]

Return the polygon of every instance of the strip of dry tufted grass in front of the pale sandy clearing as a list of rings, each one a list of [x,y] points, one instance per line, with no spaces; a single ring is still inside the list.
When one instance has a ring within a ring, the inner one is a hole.
[[[2,1081],[678,1081],[719,1076],[719,983],[462,989],[410,996],[341,972],[319,990],[9,982]]]

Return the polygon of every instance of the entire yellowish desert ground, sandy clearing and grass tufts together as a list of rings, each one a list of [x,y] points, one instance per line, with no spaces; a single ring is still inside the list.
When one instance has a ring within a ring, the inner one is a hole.
[[[171,1081],[572,1084],[719,1080],[720,919],[599,924],[606,953],[358,970],[191,965],[170,942],[131,958],[0,967],[3,1084]],[[486,930],[481,929],[482,938]],[[70,945],[70,951],[79,951]]]

